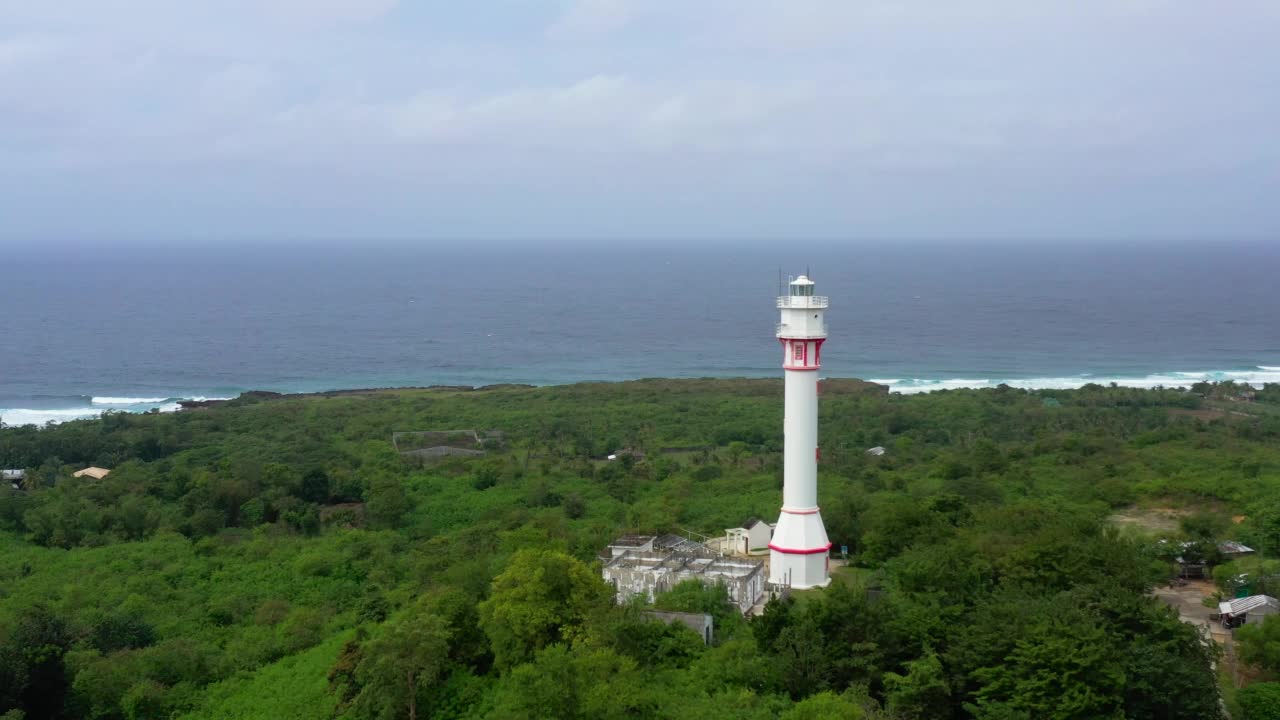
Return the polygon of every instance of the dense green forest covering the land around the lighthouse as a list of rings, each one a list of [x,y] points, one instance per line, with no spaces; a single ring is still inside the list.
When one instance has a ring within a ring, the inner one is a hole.
[[[1280,577],[1280,387],[828,379],[831,587],[749,619],[723,588],[658,598],[714,615],[710,646],[617,605],[614,537],[776,516],[781,414],[781,380],[704,379],[0,428],[26,470],[0,488],[0,717],[1280,717],[1280,620],[1244,633],[1236,691],[1151,596],[1181,542]],[[392,442],[462,429],[484,456]],[[1114,521],[1151,507],[1179,527]],[[1244,568],[1219,566],[1224,588]]]

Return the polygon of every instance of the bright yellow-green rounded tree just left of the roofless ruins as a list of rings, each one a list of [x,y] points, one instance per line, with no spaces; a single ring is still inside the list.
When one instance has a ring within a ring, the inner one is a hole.
[[[507,669],[544,647],[572,641],[591,612],[612,602],[612,588],[581,561],[563,552],[522,550],[480,603],[480,628],[494,661]]]

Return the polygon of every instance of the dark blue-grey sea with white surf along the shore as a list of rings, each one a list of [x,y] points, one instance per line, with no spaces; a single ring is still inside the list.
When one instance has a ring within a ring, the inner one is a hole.
[[[1280,382],[1280,243],[0,249],[0,418],[353,387],[778,377],[778,275],[826,377],[899,392]]]

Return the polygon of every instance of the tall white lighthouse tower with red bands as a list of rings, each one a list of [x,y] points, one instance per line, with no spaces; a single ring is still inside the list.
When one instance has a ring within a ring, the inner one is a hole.
[[[787,283],[778,297],[786,377],[782,471],[782,514],[769,542],[769,582],[796,589],[831,582],[827,553],[831,541],[818,510],[818,369],[827,340],[827,299],[813,293],[805,275]]]

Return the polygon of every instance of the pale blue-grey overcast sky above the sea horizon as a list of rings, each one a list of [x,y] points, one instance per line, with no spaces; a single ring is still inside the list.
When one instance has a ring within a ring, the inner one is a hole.
[[[1277,0],[0,0],[0,242],[1280,233]]]

